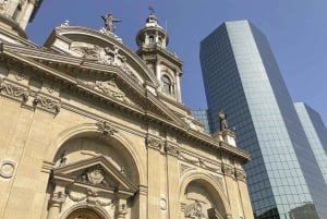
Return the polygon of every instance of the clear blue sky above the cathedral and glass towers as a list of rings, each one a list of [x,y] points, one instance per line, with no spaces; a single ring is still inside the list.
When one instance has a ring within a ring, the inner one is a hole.
[[[27,35],[41,46],[64,20],[99,29],[100,16],[111,12],[123,21],[116,34],[135,51],[149,5],[168,29],[169,50],[184,62],[182,97],[189,108],[206,109],[199,41],[225,21],[247,19],[267,36],[293,100],[308,104],[327,123],[326,0],[44,0]]]

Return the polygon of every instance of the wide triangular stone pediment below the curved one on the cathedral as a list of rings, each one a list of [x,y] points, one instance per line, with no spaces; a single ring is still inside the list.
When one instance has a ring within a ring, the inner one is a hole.
[[[142,84],[136,77],[126,74],[120,65],[82,62],[83,60],[71,54],[58,54],[35,48],[24,49],[11,45],[3,45],[3,50],[12,61],[19,62],[24,68],[38,69],[38,73],[69,84],[70,89],[96,97],[94,100],[110,101],[173,126],[186,126],[156,97],[156,94],[146,88],[147,82]]]

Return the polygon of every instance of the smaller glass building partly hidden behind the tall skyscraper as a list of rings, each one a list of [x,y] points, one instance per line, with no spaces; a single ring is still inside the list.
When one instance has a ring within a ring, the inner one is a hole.
[[[317,111],[304,102],[295,102],[295,110],[327,182],[327,130]]]

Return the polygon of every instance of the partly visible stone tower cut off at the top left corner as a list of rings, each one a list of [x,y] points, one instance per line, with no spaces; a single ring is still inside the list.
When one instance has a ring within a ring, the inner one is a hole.
[[[32,22],[43,0],[0,0],[0,27],[26,38],[25,28]]]

